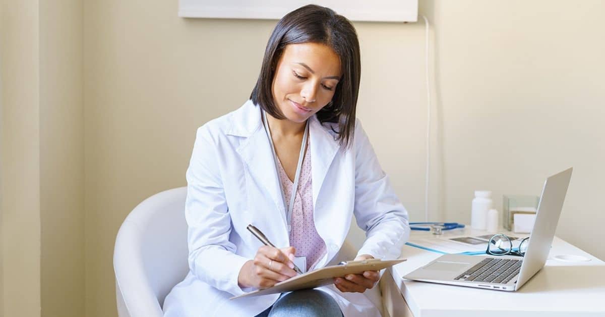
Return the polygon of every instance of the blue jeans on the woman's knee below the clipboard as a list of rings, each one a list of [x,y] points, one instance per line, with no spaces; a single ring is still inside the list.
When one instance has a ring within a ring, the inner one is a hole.
[[[297,290],[281,295],[271,307],[256,317],[325,316],[342,317],[332,296],[321,290]]]

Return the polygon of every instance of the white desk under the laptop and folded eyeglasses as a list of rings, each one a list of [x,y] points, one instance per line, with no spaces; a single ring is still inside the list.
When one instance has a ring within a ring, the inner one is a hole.
[[[503,233],[507,233],[502,231]],[[478,236],[478,230],[451,230],[443,237]],[[428,232],[412,235],[432,236]],[[522,234],[511,233],[522,236]],[[557,255],[580,255],[588,262],[563,262]],[[439,253],[405,245],[401,264],[385,272],[381,290],[391,317],[605,316],[605,262],[555,237],[546,266],[517,292],[474,289],[403,279]],[[405,299],[405,300],[404,300]]]

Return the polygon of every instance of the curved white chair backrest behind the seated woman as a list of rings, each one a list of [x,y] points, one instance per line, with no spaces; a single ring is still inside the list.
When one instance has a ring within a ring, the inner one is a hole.
[[[163,316],[164,298],[189,272],[186,187],[157,193],[126,217],[116,237],[120,317]]]

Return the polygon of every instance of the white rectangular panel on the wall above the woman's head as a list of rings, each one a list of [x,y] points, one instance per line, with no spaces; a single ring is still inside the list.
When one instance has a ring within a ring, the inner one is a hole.
[[[183,18],[281,19],[309,4],[296,0],[179,0]],[[418,0],[325,0],[315,4],[332,8],[352,21],[416,22]]]

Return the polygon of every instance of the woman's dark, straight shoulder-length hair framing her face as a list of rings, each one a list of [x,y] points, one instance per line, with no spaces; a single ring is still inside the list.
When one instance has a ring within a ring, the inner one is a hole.
[[[330,8],[306,5],[288,13],[278,22],[267,43],[261,72],[250,99],[274,118],[286,118],[273,101],[273,77],[286,45],[307,42],[327,45],[340,59],[342,78],[336,85],[332,101],[316,115],[319,122],[338,124],[335,132],[338,133],[339,142],[348,145],[355,130],[361,75],[359,40],[353,24]]]

